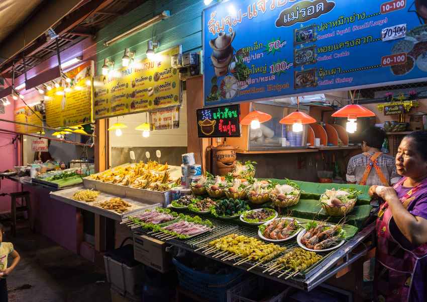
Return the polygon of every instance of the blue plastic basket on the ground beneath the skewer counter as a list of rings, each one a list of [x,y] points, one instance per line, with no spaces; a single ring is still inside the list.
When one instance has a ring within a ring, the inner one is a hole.
[[[244,272],[239,269],[228,275],[212,275],[193,270],[175,258],[172,262],[176,266],[179,285],[212,302],[226,302],[227,290],[244,277]]]

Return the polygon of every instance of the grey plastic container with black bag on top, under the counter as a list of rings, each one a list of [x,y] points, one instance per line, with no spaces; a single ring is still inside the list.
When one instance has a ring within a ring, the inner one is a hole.
[[[104,255],[105,274],[110,282],[121,293],[132,295],[140,293],[144,266],[134,260],[133,245],[128,244],[109,251]]]

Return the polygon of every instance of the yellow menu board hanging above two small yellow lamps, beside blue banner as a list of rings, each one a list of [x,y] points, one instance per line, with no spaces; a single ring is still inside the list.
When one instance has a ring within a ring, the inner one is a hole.
[[[171,66],[176,46],[130,67],[94,79],[93,118],[144,112],[180,104],[179,71]]]

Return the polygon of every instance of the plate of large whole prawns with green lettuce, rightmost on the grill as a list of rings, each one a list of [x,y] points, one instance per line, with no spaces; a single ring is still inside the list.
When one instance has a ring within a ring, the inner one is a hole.
[[[344,244],[346,232],[343,224],[310,221],[297,238],[298,245],[307,251],[330,251]]]

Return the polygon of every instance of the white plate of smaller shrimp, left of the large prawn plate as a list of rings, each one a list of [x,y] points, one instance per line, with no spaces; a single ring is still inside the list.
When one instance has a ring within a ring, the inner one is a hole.
[[[283,242],[294,238],[300,231],[298,220],[291,217],[279,217],[260,225],[258,236],[265,241]]]

